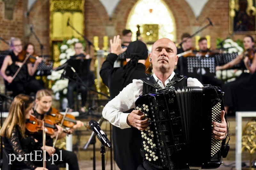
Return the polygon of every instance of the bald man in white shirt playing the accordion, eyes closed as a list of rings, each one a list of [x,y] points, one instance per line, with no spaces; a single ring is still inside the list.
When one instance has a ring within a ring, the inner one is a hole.
[[[178,62],[177,48],[175,44],[167,38],[157,40],[152,46],[152,53],[149,58],[153,65],[154,74],[149,78],[156,82],[156,88],[167,88],[172,80],[177,80],[178,83],[174,85],[175,89],[183,86],[199,86],[202,84],[193,78],[183,78],[180,80],[180,75],[173,72],[174,66]],[[179,81],[180,80],[180,81]],[[148,119],[139,110],[132,110],[127,114],[124,111],[135,108],[135,101],[142,95],[142,93],[155,91],[156,88],[143,83],[142,80],[133,80],[132,83],[127,85],[114,99],[108,102],[103,109],[102,115],[111,124],[121,128],[137,128],[145,130],[148,125]],[[219,123],[212,122],[214,126],[213,138],[224,139],[227,135],[227,122],[224,118],[225,111],[221,111],[221,121]],[[163,169],[162,166],[153,166],[148,161],[143,162],[138,169]]]

